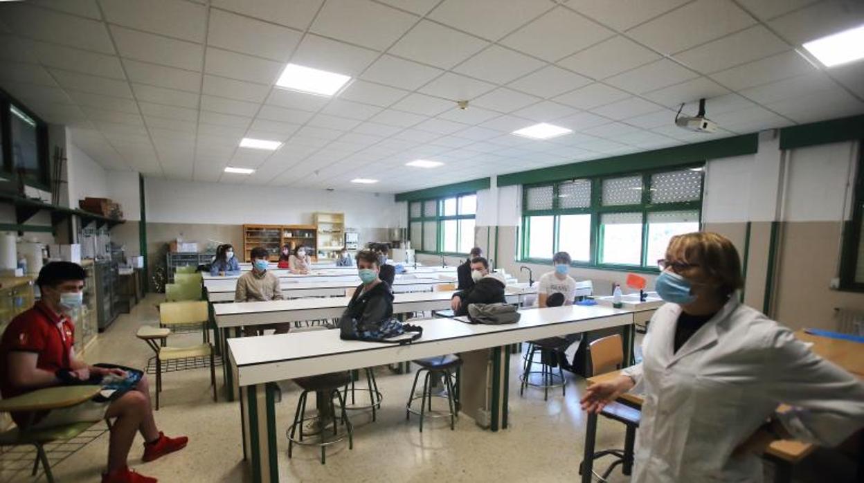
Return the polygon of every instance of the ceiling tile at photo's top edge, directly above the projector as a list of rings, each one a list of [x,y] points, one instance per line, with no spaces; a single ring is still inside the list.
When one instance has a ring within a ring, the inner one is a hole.
[[[627,34],[663,54],[675,54],[755,22],[730,0],[696,0],[628,30]]]

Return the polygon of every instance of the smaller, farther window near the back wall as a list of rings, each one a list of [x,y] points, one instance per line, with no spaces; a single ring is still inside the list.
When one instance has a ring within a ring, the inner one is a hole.
[[[476,213],[476,194],[411,201],[408,206],[411,246],[426,253],[471,251]]]

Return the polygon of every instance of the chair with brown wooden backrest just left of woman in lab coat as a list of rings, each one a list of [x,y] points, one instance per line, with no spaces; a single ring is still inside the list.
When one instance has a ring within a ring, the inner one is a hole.
[[[624,348],[622,343],[623,340],[620,334],[609,335],[591,342],[588,346],[588,353],[591,357],[593,375],[612,372],[621,368],[621,365],[624,364]],[[624,449],[604,449],[594,453],[591,457],[592,460],[596,460],[607,454],[616,457],[616,460],[600,476],[600,480],[606,481],[618,465],[623,465],[621,468],[622,473],[630,475],[633,466],[633,447],[636,442],[636,429],[639,427],[639,419],[642,416],[642,412],[626,404],[613,401],[600,410],[600,414],[619,423],[624,423],[626,426]],[[579,473],[582,473],[581,464],[579,465]]]

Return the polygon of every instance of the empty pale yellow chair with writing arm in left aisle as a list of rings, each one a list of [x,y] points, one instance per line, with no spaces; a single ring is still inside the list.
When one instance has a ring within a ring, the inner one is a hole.
[[[207,302],[164,302],[159,305],[159,325],[138,329],[137,338],[143,340],[156,353],[156,410],[159,410],[159,393],[162,391],[162,365],[169,361],[209,357],[210,384],[213,385],[213,402],[216,396],[216,360],[213,346],[207,341],[207,324],[210,312]],[[205,342],[197,346],[165,346],[168,335],[177,327],[199,326],[204,330]]]

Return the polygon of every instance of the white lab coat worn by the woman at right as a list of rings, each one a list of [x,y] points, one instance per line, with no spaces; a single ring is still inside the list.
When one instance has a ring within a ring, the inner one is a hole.
[[[761,481],[759,457],[732,451],[781,403],[794,409],[780,421],[806,442],[835,445],[864,426],[864,383],[736,296],[674,353],[680,314],[658,308],[642,363],[625,370],[645,397],[633,483]]]

